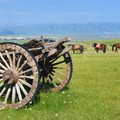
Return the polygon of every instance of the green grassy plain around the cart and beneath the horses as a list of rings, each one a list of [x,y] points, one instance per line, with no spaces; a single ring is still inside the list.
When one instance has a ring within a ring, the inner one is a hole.
[[[84,45],[88,49],[83,54],[70,52],[73,76],[66,89],[40,93],[19,110],[1,110],[0,119],[120,120],[120,54],[97,54],[89,42]]]

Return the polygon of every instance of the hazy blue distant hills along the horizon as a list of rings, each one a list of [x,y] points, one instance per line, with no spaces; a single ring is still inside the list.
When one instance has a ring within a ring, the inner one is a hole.
[[[0,29],[0,35],[72,36],[75,39],[120,38],[120,23],[36,24]]]

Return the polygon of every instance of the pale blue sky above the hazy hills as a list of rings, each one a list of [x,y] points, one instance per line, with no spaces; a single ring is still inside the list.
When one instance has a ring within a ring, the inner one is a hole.
[[[120,22],[120,0],[0,0],[0,26]]]

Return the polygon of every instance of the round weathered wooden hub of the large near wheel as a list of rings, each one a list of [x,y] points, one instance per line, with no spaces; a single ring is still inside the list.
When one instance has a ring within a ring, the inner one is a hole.
[[[3,80],[6,84],[15,84],[18,81],[18,72],[16,70],[6,70],[3,73]]]

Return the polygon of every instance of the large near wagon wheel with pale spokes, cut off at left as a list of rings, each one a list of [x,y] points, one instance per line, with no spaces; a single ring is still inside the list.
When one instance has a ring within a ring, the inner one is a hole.
[[[39,72],[31,54],[15,43],[0,44],[0,109],[18,109],[37,92]]]

